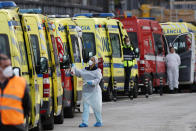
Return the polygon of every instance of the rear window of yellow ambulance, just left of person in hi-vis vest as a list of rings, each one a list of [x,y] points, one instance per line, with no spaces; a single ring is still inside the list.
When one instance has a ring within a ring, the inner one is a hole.
[[[110,42],[112,45],[112,56],[115,58],[121,57],[120,39],[118,34],[110,34]]]

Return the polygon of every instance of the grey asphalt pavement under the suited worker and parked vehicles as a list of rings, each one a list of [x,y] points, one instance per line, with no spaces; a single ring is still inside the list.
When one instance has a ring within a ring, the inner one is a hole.
[[[118,98],[103,103],[103,127],[93,127],[91,113],[88,128],[79,128],[81,114],[55,125],[55,131],[196,131],[196,93],[158,94],[148,99]]]

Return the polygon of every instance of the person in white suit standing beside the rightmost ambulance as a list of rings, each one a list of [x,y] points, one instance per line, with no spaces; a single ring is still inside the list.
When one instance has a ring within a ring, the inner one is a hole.
[[[181,61],[180,56],[175,53],[173,47],[170,47],[170,53],[166,56],[166,64],[169,88],[171,93],[174,93],[174,90],[178,90],[179,65]]]

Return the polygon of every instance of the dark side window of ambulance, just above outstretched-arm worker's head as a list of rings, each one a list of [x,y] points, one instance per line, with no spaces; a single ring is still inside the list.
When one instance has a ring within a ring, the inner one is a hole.
[[[85,53],[88,54],[92,52],[92,55],[96,55],[96,45],[95,45],[95,36],[93,33],[82,33],[83,44]]]

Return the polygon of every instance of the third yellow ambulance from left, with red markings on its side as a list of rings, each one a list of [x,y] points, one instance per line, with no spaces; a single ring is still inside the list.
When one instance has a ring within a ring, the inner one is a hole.
[[[74,63],[78,69],[84,68],[82,59],[82,41],[76,30],[77,25],[71,18],[63,15],[49,17],[51,37],[58,47],[58,55],[62,58],[61,72],[64,89],[64,116],[73,117],[76,106],[80,105],[83,82],[81,78],[70,75],[70,65]],[[63,59],[63,57],[68,59]],[[70,81],[72,79],[72,81]]]

